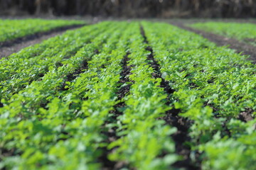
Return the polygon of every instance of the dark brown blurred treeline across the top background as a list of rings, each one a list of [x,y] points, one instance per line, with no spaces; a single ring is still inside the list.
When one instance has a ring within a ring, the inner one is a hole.
[[[256,0],[0,0],[0,15],[113,17],[256,16]]]

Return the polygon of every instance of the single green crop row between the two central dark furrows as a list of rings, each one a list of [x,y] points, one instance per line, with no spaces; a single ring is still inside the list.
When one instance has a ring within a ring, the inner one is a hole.
[[[126,162],[137,169],[169,169],[178,160],[174,142],[170,135],[176,128],[164,125],[161,118],[169,107],[165,105],[167,95],[159,87],[161,79],[154,79],[154,69],[147,60],[149,51],[140,33],[137,23],[132,29],[132,43],[129,45],[131,75],[124,86],[130,87],[129,93],[122,98],[124,108],[117,117],[118,140],[111,142],[108,148],[115,148],[110,159]],[[166,152],[164,157],[161,155]]]

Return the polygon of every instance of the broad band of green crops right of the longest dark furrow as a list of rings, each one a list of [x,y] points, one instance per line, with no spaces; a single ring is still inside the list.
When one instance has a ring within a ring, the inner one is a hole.
[[[143,23],[162,77],[175,90],[171,106],[193,120],[188,145],[203,169],[254,169],[256,67],[246,56],[165,23]],[[195,159],[191,152],[191,159]]]

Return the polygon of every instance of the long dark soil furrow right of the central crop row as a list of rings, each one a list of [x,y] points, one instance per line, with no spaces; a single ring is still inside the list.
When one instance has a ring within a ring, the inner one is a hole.
[[[144,28],[142,26],[141,26],[141,33],[144,37],[144,42],[147,45],[149,45],[149,42],[147,41],[146,35],[144,33]],[[150,54],[148,55],[148,60],[150,61],[151,67],[154,68],[154,73],[152,74],[152,76],[154,78],[161,79],[161,88],[163,88],[164,91],[166,91],[166,94],[168,95],[168,97],[166,98],[167,99],[166,105],[169,105],[170,104],[169,98],[171,94],[174,93],[174,89],[171,89],[171,86],[169,86],[168,81],[166,81],[161,77],[160,65],[154,59],[153,49],[150,46],[148,46],[146,47],[146,50],[150,52]],[[167,111],[165,116],[161,118],[166,122],[166,124],[171,125],[171,127],[177,128],[177,132],[174,135],[171,135],[171,137],[174,140],[176,145],[176,154],[181,155],[183,157],[183,160],[174,163],[173,166],[175,166],[176,168],[183,168],[183,169],[190,169],[190,170],[201,169],[200,168],[201,162],[199,161],[196,162],[197,165],[192,164],[192,161],[190,159],[191,148],[188,146],[185,146],[185,143],[191,140],[188,135],[188,130],[192,121],[188,120],[187,118],[183,118],[179,116],[178,115],[179,113],[181,113],[180,110],[173,108],[170,111]]]

